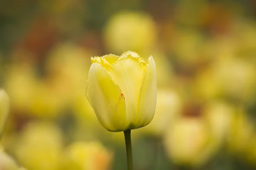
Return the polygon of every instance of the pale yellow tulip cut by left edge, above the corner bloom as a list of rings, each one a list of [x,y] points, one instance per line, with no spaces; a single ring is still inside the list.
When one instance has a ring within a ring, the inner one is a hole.
[[[6,94],[6,91],[0,89],[0,139],[9,115],[9,105],[9,96]]]

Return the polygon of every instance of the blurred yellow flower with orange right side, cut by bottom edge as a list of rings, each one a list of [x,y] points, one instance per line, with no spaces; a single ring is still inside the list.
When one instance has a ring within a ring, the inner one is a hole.
[[[99,142],[75,142],[65,151],[65,170],[110,170],[112,153]]]

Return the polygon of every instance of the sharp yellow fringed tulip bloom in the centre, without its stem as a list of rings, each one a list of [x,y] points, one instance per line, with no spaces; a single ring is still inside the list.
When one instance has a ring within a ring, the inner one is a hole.
[[[105,129],[119,132],[151,122],[156,108],[156,67],[135,52],[91,58],[86,96]]]

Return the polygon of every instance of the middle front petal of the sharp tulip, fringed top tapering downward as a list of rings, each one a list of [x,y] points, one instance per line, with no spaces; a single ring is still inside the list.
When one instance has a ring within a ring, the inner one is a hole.
[[[137,123],[140,86],[145,68],[133,59],[119,60],[111,66],[109,74],[122,91],[125,98],[127,121],[131,123],[130,129],[133,129]]]

